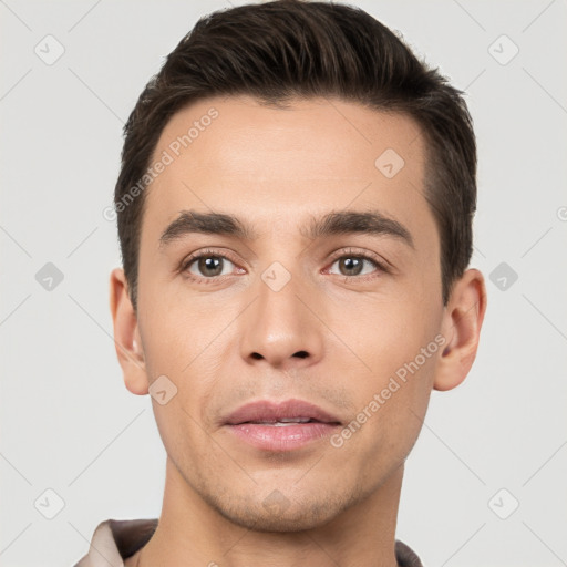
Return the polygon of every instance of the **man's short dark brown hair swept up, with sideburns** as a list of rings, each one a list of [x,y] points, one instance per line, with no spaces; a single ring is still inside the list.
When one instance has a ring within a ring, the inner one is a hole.
[[[173,114],[216,95],[252,95],[264,104],[337,96],[416,121],[427,145],[424,196],[440,234],[446,305],[471,260],[476,210],[476,143],[462,94],[355,7],[277,0],[202,18],[150,80],[124,126],[114,206],[134,308],[145,203],[140,181]],[[135,185],[136,198],[125,206]]]

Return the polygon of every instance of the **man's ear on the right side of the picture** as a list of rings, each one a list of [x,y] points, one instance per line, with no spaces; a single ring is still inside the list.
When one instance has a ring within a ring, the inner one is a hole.
[[[447,342],[435,371],[435,390],[451,390],[468,374],[476,357],[485,311],[484,277],[477,269],[468,269],[455,282],[443,315],[442,333]]]

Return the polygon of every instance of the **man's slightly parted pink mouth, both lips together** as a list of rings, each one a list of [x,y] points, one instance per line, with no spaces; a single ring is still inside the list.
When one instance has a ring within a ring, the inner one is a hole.
[[[286,452],[323,440],[341,426],[341,421],[302,400],[258,401],[231,413],[225,426],[256,449]]]

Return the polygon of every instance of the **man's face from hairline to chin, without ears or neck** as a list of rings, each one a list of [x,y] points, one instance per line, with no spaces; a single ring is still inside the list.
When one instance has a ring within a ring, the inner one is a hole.
[[[177,388],[153,401],[168,457],[241,526],[323,525],[401,467],[442,358],[424,140],[354,103],[217,97],[173,116],[164,152],[137,331],[148,384]]]

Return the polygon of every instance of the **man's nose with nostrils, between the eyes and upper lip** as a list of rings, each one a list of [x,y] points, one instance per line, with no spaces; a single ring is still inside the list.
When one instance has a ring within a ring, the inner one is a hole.
[[[292,277],[282,289],[258,282],[257,298],[240,321],[241,357],[280,370],[306,368],[323,352],[324,326],[313,292]]]

